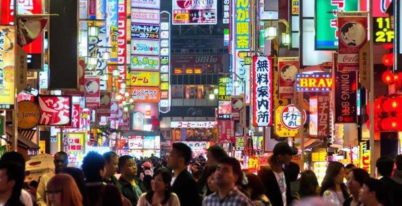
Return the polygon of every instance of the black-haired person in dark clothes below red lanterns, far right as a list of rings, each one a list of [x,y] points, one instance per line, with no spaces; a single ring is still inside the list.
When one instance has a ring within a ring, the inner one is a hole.
[[[391,179],[393,160],[390,157],[380,157],[375,163],[378,173],[382,176],[379,179],[385,186],[387,196],[386,205],[402,205],[402,184]]]

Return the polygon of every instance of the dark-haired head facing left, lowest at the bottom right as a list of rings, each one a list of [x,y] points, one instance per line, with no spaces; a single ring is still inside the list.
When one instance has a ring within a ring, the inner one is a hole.
[[[374,178],[369,178],[359,190],[359,201],[364,204],[378,201],[385,205],[386,196],[383,183]]]

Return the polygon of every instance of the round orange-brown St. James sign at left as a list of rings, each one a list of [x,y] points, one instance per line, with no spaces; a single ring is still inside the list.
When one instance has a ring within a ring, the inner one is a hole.
[[[41,120],[41,111],[35,102],[24,100],[18,102],[18,128],[30,130],[36,127]]]

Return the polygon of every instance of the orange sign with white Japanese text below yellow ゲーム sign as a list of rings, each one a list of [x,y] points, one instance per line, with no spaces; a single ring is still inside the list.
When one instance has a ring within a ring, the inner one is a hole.
[[[134,86],[128,88],[128,92],[136,102],[159,102],[159,87]]]

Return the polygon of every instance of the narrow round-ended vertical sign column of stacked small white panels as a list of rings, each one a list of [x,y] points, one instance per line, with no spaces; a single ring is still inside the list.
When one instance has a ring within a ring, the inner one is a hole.
[[[170,13],[160,14],[160,101],[159,111],[170,111]]]

